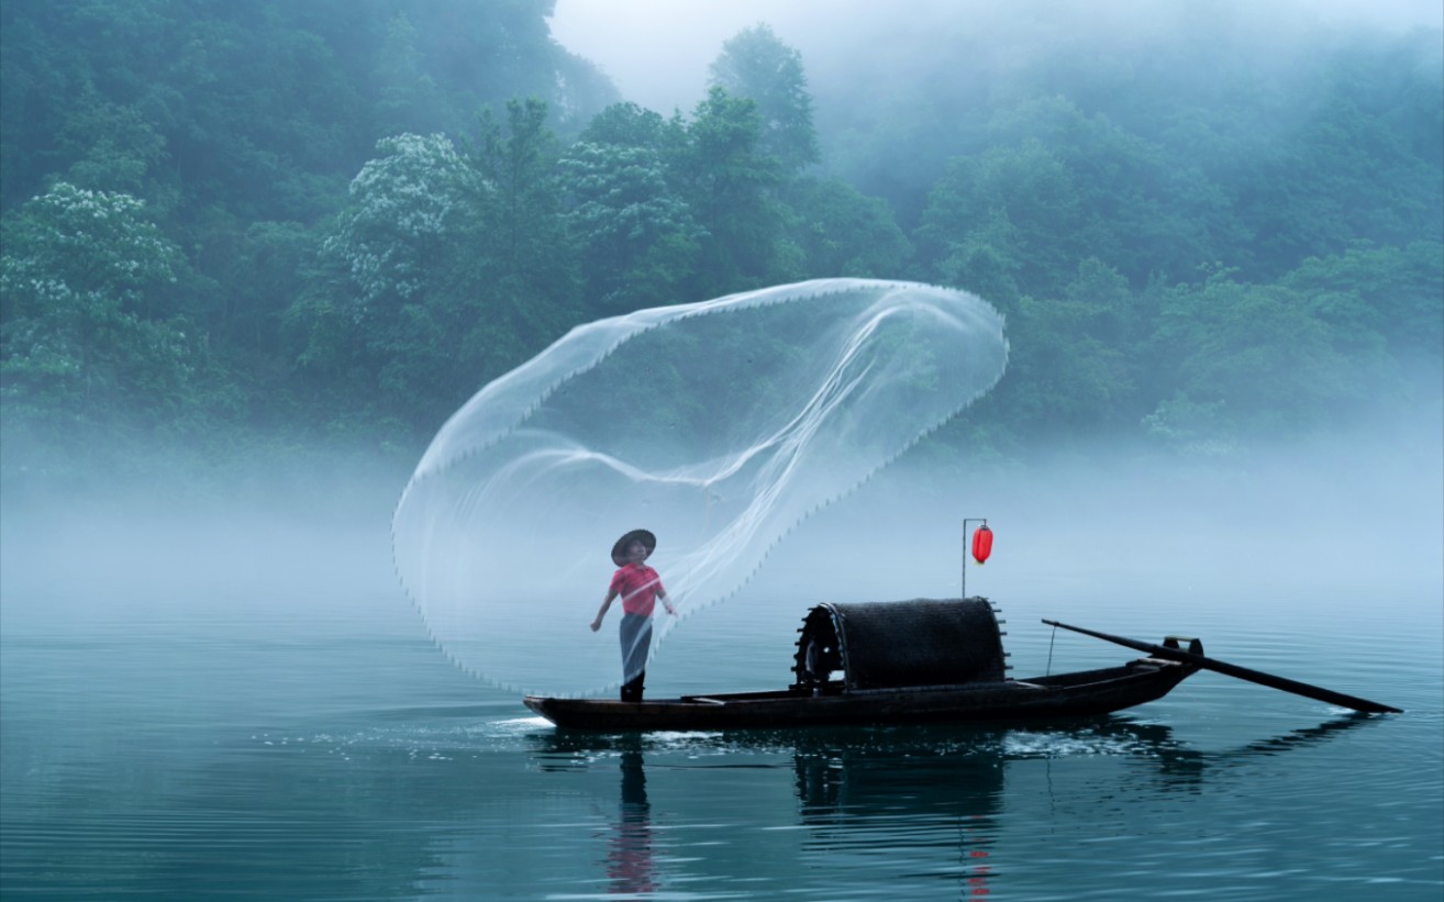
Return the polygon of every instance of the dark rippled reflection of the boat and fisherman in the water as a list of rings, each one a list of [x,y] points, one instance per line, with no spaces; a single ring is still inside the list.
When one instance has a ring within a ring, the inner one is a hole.
[[[543,769],[619,776],[615,814],[598,837],[611,893],[744,879],[765,890],[796,867],[814,880],[827,875],[839,893],[864,875],[897,873],[973,898],[1001,892],[998,880],[1028,866],[1002,857],[1019,853],[1002,843],[1009,824],[1043,828],[1070,810],[1106,818],[1097,813],[1131,800],[1226,792],[1232,775],[1245,779],[1262,758],[1365,723],[1376,720],[1350,716],[1217,752],[1128,716],[1028,727],[549,729],[530,742]],[[1116,827],[1099,823],[1100,834]]]

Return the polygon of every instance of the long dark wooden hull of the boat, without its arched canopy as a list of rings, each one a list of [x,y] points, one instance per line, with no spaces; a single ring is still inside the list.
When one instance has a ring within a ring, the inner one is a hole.
[[[1144,658],[1105,670],[952,687],[819,694],[783,690],[643,701],[527,696],[523,701],[559,727],[604,732],[1058,720],[1154,701],[1197,671],[1177,661]]]

